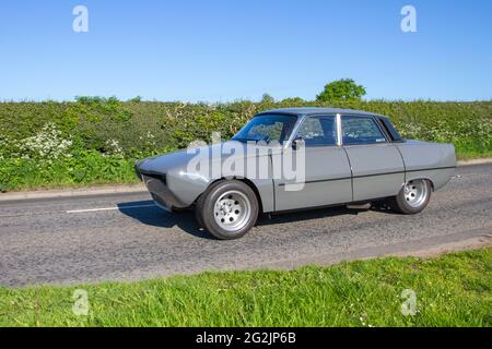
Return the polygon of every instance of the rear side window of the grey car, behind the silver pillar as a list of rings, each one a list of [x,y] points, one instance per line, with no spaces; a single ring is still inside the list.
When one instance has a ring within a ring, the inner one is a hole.
[[[372,118],[342,117],[343,144],[385,143],[386,139]]]

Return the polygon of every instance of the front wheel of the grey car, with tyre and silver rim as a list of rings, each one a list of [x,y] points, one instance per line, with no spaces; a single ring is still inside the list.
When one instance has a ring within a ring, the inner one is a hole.
[[[198,200],[198,222],[215,238],[233,240],[242,238],[256,224],[258,200],[247,184],[221,181],[213,184]]]

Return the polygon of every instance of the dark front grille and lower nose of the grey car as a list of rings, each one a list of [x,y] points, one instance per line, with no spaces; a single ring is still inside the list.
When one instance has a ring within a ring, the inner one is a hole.
[[[140,178],[151,193],[155,204],[160,207],[167,210],[173,209],[173,207],[187,207],[187,205],[181,203],[167,186],[166,174],[142,171],[139,169],[138,165],[136,165],[136,172],[138,178]]]

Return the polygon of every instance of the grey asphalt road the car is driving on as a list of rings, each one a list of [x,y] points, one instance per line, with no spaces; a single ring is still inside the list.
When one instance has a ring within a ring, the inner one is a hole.
[[[325,208],[260,218],[218,241],[191,213],[148,194],[0,203],[0,285],[134,280],[211,269],[333,263],[456,243],[492,233],[492,165],[461,167],[427,209]]]

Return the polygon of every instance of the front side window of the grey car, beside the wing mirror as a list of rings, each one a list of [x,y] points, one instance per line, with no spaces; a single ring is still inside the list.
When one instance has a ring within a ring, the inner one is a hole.
[[[306,146],[336,145],[337,123],[335,117],[306,118],[297,132],[297,137],[302,137]]]

